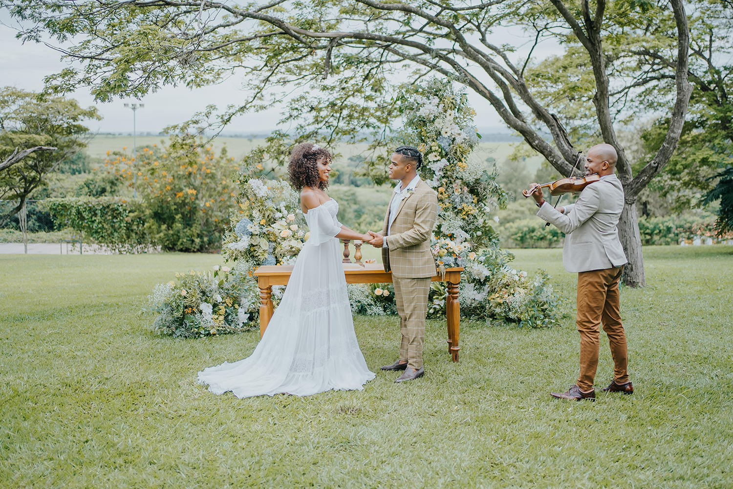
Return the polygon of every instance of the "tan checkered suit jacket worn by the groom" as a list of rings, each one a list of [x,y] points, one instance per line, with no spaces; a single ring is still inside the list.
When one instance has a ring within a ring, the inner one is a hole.
[[[394,195],[392,196],[394,198]],[[415,191],[402,199],[387,236],[389,206],[380,235],[388,249],[382,249],[384,271],[405,279],[432,277],[438,272],[430,249],[430,237],[438,218],[438,194],[422,180]]]

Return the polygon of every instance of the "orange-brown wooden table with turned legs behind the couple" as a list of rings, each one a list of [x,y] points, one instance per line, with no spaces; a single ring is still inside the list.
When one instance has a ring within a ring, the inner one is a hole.
[[[453,361],[458,361],[458,335],[460,332],[460,304],[458,302],[458,284],[463,267],[446,268],[445,278],[436,275],[432,282],[448,282],[446,297],[446,323],[448,327],[448,353]],[[273,285],[287,285],[292,273],[292,265],[265,265],[257,268],[254,275],[259,284],[259,336],[273,317]],[[392,282],[392,273],[384,271],[381,263],[368,263],[364,266],[357,263],[344,263],[347,284],[385,284]]]

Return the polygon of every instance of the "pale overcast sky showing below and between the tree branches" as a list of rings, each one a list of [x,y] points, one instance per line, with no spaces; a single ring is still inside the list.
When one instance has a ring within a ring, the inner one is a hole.
[[[43,89],[43,78],[58,73],[67,66],[62,62],[61,54],[43,44],[21,43],[15,39],[15,29],[6,12],[0,15],[0,86],[14,86],[22,89]],[[509,34],[511,35],[511,34]],[[504,42],[507,33],[504,33]],[[516,40],[521,40],[517,36]],[[556,46],[550,43],[540,45],[534,51],[539,57],[554,54]],[[521,53],[521,50],[519,51]],[[89,129],[98,133],[131,133],[133,130],[133,111],[125,109],[124,103],[144,103],[144,109],[136,113],[136,130],[138,133],[157,134],[167,125],[188,120],[197,111],[213,104],[224,108],[229,103],[237,103],[245,98],[246,92],[240,89],[242,79],[232,76],[221,84],[199,89],[186,87],[163,87],[157,93],[150,93],[142,100],[114,100],[111,103],[95,103],[89,89],[83,87],[67,94],[75,98],[81,106],[97,106],[103,120],[92,121]],[[476,109],[476,126],[484,132],[509,133],[509,129],[498,117],[496,111],[484,98],[468,91],[471,105]],[[278,126],[279,109],[269,109],[257,114],[245,114],[234,120],[225,133],[251,134],[269,133]]]

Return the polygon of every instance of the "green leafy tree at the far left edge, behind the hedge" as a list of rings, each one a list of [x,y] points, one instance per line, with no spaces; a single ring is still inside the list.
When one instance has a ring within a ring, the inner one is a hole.
[[[0,216],[0,226],[45,185],[49,172],[86,146],[83,137],[89,129],[81,122],[100,118],[97,109],[82,109],[73,99],[0,89],[0,199],[19,201]]]

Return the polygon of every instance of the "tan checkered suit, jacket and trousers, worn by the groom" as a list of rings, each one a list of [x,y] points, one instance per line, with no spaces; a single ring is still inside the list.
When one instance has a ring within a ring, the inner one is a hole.
[[[394,196],[393,196],[394,198]],[[422,367],[422,345],[425,340],[425,316],[430,279],[435,276],[435,258],[430,250],[430,237],[438,218],[438,194],[422,180],[415,191],[406,196],[397,208],[387,236],[389,207],[380,235],[386,236],[388,248],[382,249],[384,271],[392,271],[394,298],[399,314],[399,360],[408,367]]]

